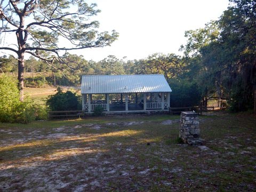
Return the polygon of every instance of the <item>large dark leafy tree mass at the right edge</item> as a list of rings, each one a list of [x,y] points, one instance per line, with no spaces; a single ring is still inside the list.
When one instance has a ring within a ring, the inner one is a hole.
[[[227,98],[230,110],[241,111],[253,107],[256,90],[256,3],[230,2],[220,20],[187,31],[182,48],[204,97]]]

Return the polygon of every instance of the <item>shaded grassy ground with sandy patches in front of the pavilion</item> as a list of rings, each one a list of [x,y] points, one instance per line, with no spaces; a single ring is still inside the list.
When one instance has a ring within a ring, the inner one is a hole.
[[[255,115],[214,114],[200,147],[179,116],[0,124],[0,191],[255,191]]]

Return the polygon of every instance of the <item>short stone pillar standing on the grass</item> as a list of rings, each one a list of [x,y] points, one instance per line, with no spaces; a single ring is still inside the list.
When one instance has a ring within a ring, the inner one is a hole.
[[[181,112],[179,137],[188,145],[202,145],[198,115],[193,111]]]

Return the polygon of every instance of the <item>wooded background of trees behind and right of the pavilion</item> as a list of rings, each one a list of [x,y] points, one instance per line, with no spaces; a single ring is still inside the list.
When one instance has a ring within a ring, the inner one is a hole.
[[[49,65],[31,56],[25,60],[25,86],[76,86],[82,75],[163,74],[173,90],[172,107],[207,106],[209,98],[218,98],[227,101],[231,111],[252,109],[256,92],[255,1],[230,0],[219,20],[188,30],[185,36],[182,56],[155,53],[126,60],[109,55],[95,62],[67,52],[63,58],[68,65],[59,60]],[[4,55],[0,73],[17,76],[17,65],[15,55]]]

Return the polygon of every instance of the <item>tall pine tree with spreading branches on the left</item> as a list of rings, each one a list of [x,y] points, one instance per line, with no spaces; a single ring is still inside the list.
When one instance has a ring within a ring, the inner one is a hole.
[[[23,100],[24,54],[29,53],[58,69],[55,63],[68,65],[67,51],[110,45],[118,37],[115,30],[99,33],[98,21],[91,20],[100,12],[96,4],[84,0],[9,0],[0,2],[1,38],[15,34],[14,47],[0,47],[18,56],[18,80]],[[60,42],[66,39],[65,44]],[[58,62],[56,62],[58,61]],[[73,68],[74,69],[74,68]]]

